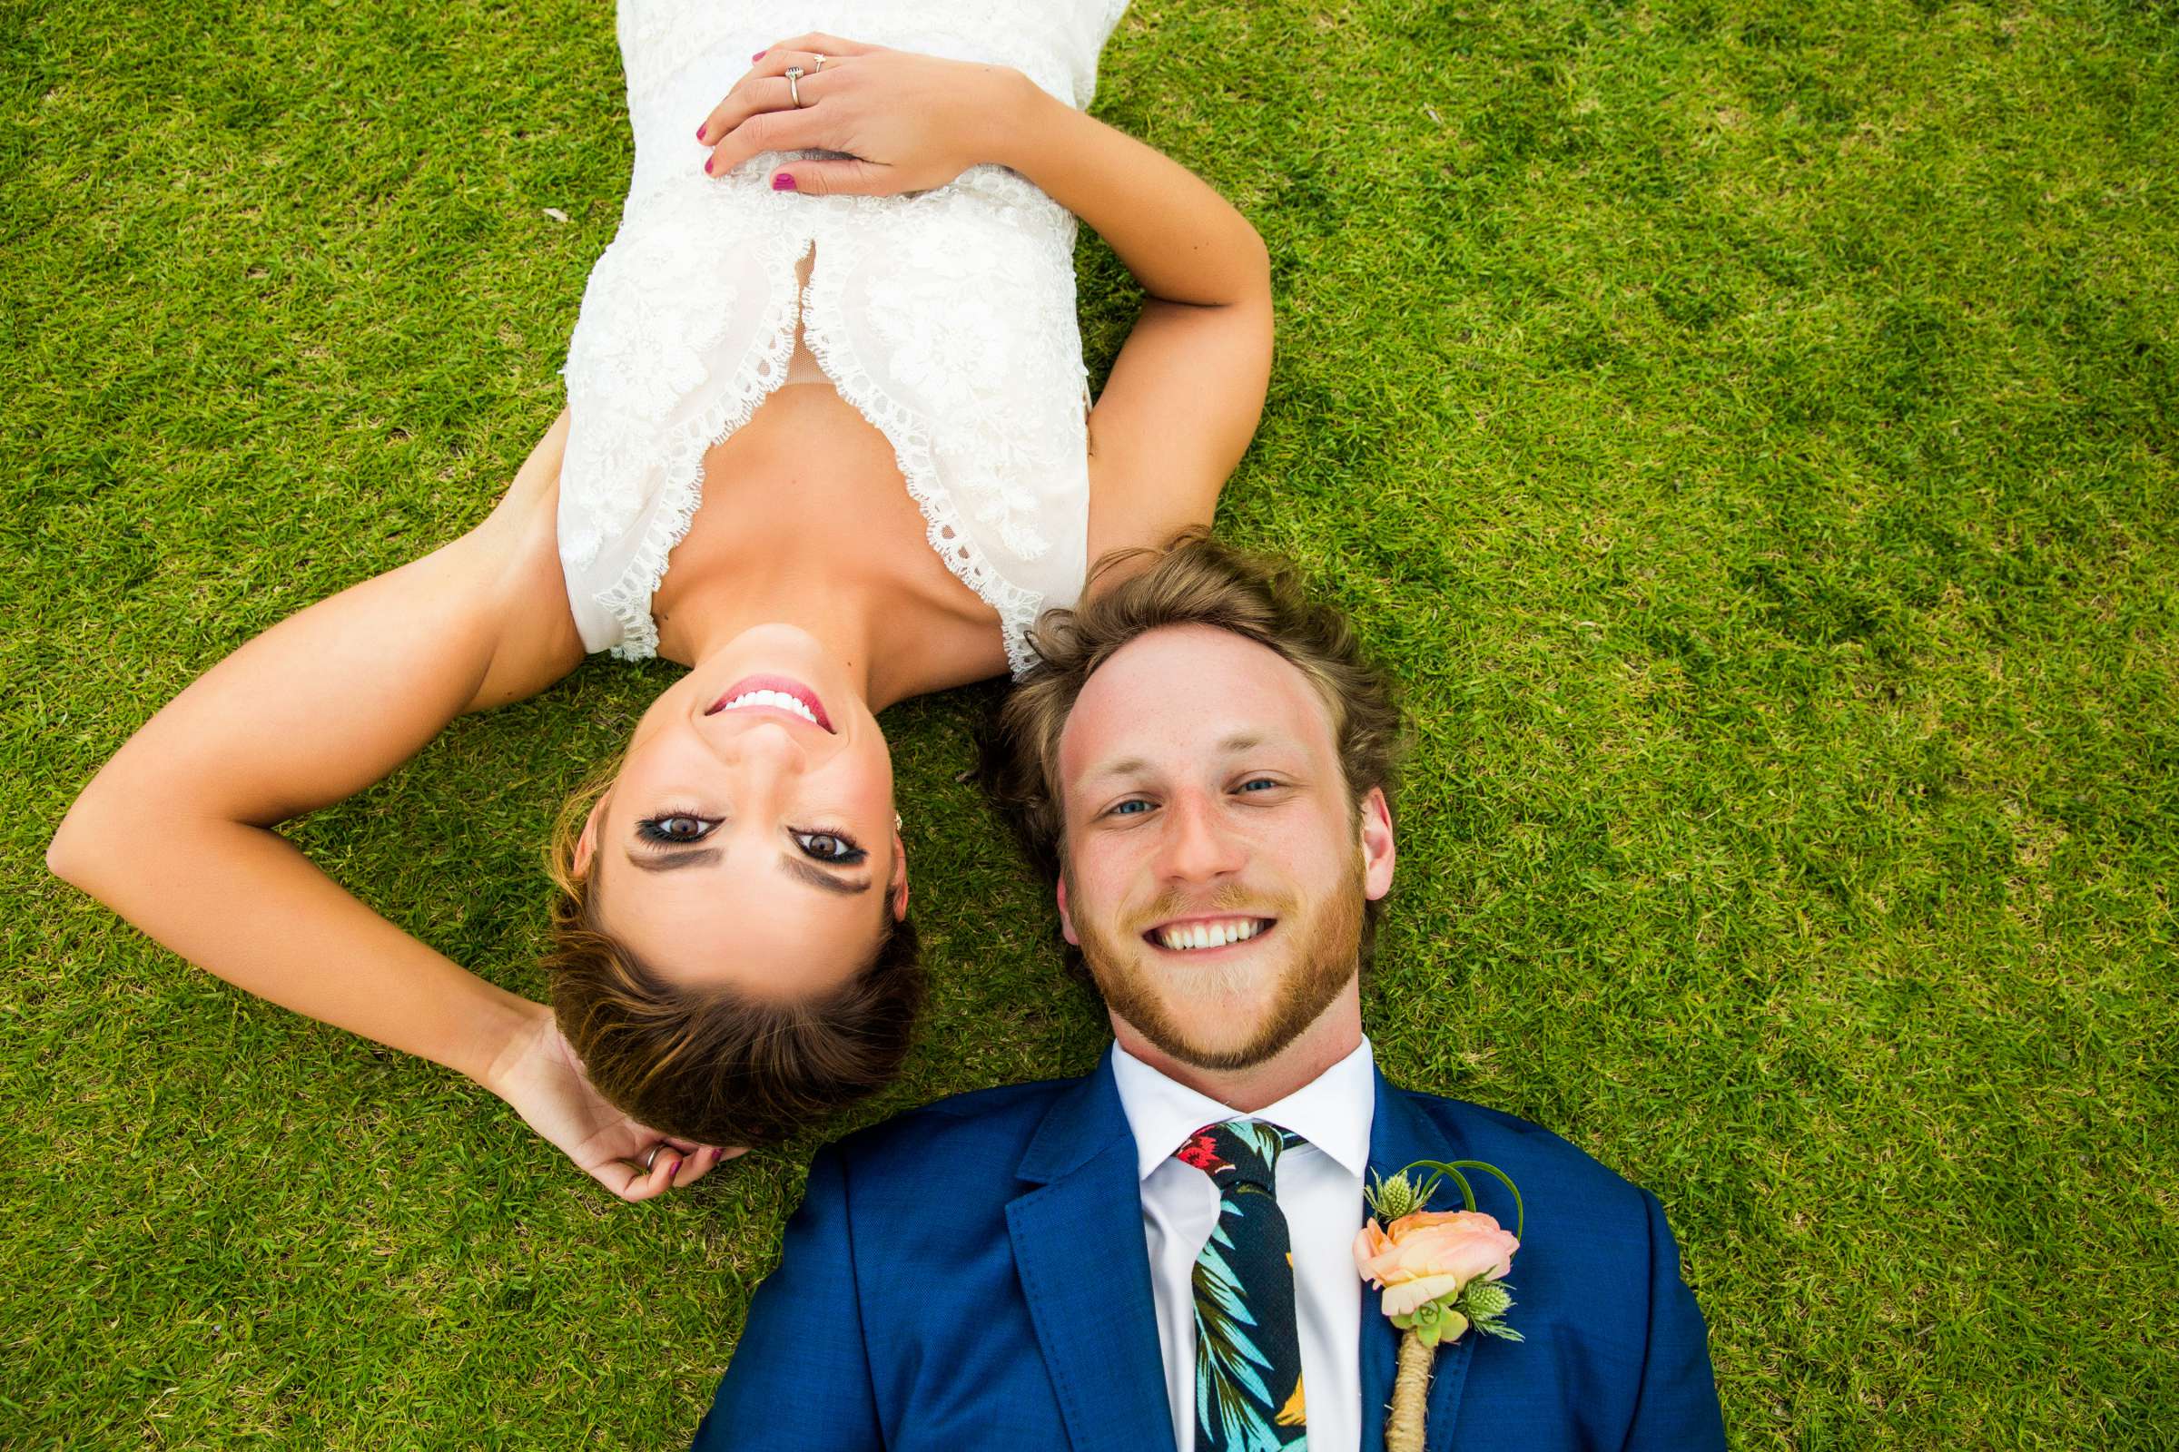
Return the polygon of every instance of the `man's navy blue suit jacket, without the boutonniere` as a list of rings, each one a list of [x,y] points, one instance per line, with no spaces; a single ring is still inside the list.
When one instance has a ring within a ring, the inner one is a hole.
[[[1506,1282],[1527,1341],[1438,1352],[1432,1452],[1724,1448],[1656,1197],[1536,1125],[1379,1075],[1371,1169],[1414,1160],[1488,1160],[1527,1202]],[[1512,1226],[1504,1186],[1477,1180],[1480,1208]],[[1384,1445],[1397,1337],[1371,1295],[1362,1452]],[[1111,1054],[1081,1080],[941,1099],[821,1149],[695,1445],[1172,1452]]]

